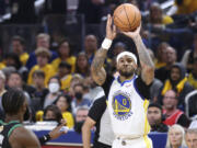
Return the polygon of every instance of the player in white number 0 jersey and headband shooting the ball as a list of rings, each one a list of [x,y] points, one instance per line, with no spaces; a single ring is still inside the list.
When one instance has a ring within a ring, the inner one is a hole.
[[[116,26],[112,26],[112,16],[107,16],[106,37],[91,65],[94,81],[102,86],[107,96],[107,107],[116,136],[113,148],[152,148],[148,137],[150,126],[147,119],[149,90],[154,78],[154,65],[139,34],[140,26],[134,32],[121,32],[136,44],[141,65],[141,75],[136,76],[137,57],[130,52],[117,56],[116,78],[106,75],[103,68]]]

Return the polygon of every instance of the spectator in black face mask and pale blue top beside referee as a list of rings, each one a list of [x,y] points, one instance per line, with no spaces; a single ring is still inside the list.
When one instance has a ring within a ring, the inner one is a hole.
[[[74,99],[71,102],[71,107],[72,107],[72,114],[76,115],[77,109],[80,106],[90,106],[91,102],[83,98],[84,94],[84,86],[82,83],[78,83],[73,87],[73,93],[74,93]]]

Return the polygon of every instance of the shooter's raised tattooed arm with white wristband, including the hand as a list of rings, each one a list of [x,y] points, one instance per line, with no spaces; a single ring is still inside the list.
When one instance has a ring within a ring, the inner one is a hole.
[[[107,50],[112,45],[113,39],[116,36],[116,27],[113,25],[112,27],[112,16],[107,15],[107,24],[106,24],[106,37],[102,43],[101,49],[99,49],[94,56],[93,62],[91,65],[91,75],[94,81],[102,86],[106,79],[106,71],[103,67],[105,58],[107,56]]]

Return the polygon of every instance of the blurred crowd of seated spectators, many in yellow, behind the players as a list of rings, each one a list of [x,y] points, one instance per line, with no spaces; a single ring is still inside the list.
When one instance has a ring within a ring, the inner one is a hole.
[[[169,132],[169,147],[179,147],[184,128],[197,128],[197,0],[0,0],[0,25],[37,24],[47,14],[70,13],[84,15],[85,24],[100,25],[125,2],[140,9],[141,36],[155,64],[148,109],[151,130]],[[4,19],[7,14],[9,19]],[[76,50],[69,36],[56,39],[56,48],[51,45],[55,38],[47,32],[33,37],[35,47],[26,46],[27,41],[19,34],[11,36],[9,49],[0,47],[0,100],[11,88],[23,90],[28,102],[25,121],[60,123],[65,118],[70,129],[80,133],[90,106],[104,95],[90,73],[103,38],[85,34],[84,49]],[[124,50],[136,53],[136,47],[119,34],[105,61],[108,75],[117,75],[115,59]],[[4,117],[1,103],[0,116]],[[186,143],[189,134],[197,137],[190,130]]]

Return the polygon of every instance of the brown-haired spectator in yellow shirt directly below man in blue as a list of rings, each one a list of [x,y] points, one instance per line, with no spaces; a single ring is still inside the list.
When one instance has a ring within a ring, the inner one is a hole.
[[[48,80],[56,75],[54,67],[48,64],[48,60],[50,58],[50,53],[48,49],[39,47],[35,50],[35,55],[37,58],[37,65],[35,65],[30,73],[28,73],[28,79],[27,83],[33,84],[33,72],[35,70],[43,70],[45,73],[45,86],[47,86]]]

